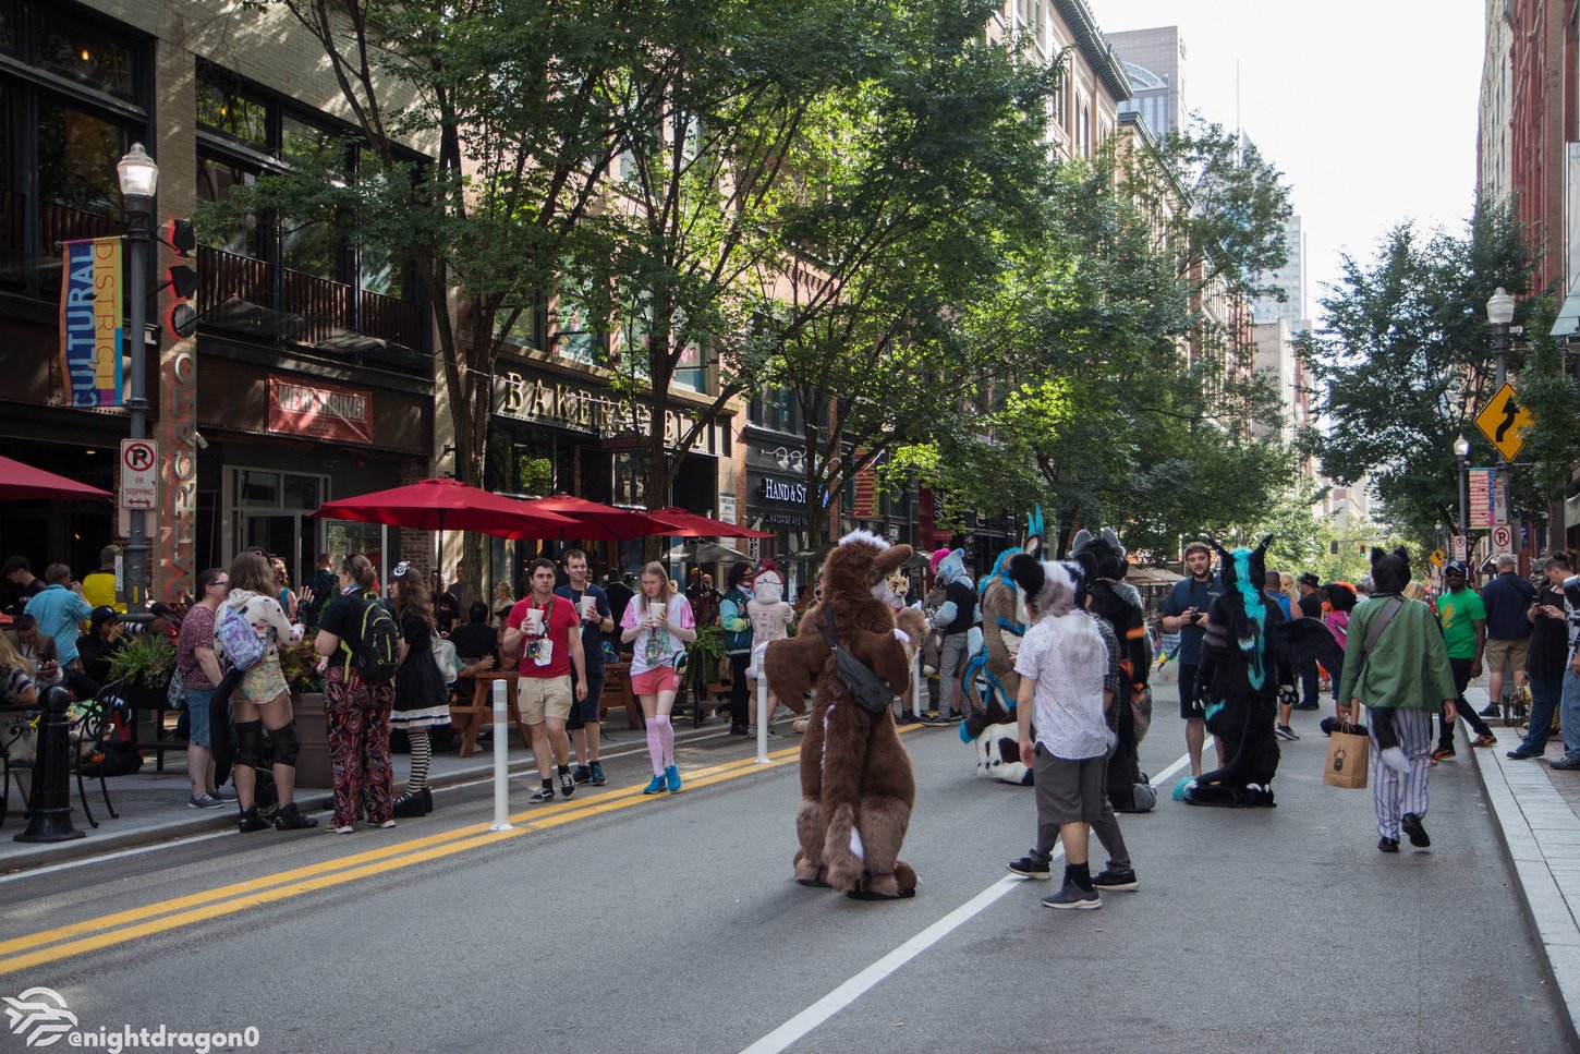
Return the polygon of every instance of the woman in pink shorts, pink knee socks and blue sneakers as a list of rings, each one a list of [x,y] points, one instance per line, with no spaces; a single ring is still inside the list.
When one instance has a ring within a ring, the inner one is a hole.
[[[675,766],[675,725],[670,710],[681,686],[686,645],[697,640],[697,619],[690,602],[675,593],[664,564],[654,561],[641,569],[641,593],[630,597],[619,619],[619,638],[632,646],[630,691],[641,700],[641,716],[648,719],[648,755],[653,759],[653,782],[645,795],[681,789]]]

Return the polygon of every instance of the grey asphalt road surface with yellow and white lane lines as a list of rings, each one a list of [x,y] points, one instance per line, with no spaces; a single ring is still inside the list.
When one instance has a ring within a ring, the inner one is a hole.
[[[1100,912],[1005,879],[1032,795],[975,779],[953,728],[904,735],[923,886],[891,904],[792,883],[793,760],[714,735],[683,747],[703,776],[676,798],[637,795],[629,755],[509,834],[476,787],[392,831],[228,833],[3,880],[0,994],[49,986],[81,1029],[254,1026],[292,1052],[1569,1051],[1471,768],[1435,770],[1431,852],[1384,856],[1370,793],[1319,784],[1316,716],[1277,809],[1164,795],[1122,817],[1141,890]],[[1182,743],[1160,717],[1144,766]],[[22,1049],[3,1022],[0,1049]]]

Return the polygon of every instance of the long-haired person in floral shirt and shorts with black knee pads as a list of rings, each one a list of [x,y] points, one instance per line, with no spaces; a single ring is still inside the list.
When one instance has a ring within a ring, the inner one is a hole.
[[[280,642],[302,640],[302,626],[286,619],[280,600],[275,599],[275,572],[269,561],[254,551],[246,551],[231,563],[231,593],[220,605],[216,624],[228,612],[235,612],[253,626],[264,640],[264,656],[242,672],[231,692],[231,714],[235,717],[235,796],[240,809],[239,826],[243,833],[261,831],[269,820],[258,814],[254,792],[258,768],[264,763],[264,728],[273,743],[272,771],[280,807],[275,812],[275,828],[281,831],[318,826],[318,820],[303,815],[295,804],[295,760],[302,751],[302,736],[295,730],[291,713],[291,692],[280,667]],[[220,648],[223,654],[223,645]]]

